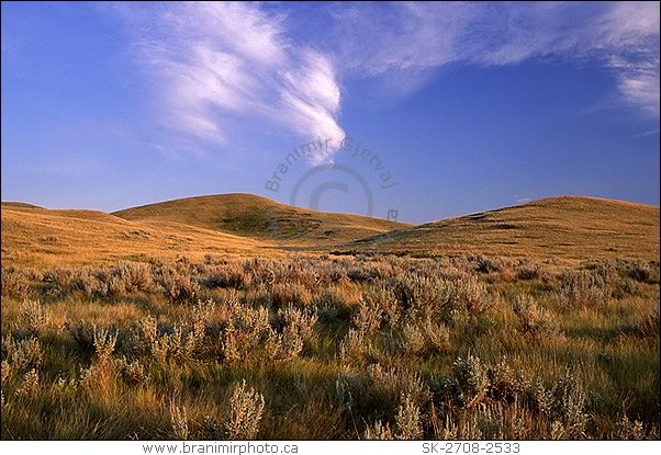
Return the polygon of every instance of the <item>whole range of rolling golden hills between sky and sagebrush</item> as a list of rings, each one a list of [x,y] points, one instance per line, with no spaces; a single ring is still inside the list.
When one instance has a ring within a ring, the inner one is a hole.
[[[659,259],[659,207],[583,196],[535,201],[421,226],[314,212],[249,194],[107,214],[2,203],[2,265],[63,265],[288,251],[560,260]]]

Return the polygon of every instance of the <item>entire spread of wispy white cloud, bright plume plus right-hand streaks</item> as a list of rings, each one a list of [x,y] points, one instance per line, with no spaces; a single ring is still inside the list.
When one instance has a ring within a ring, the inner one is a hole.
[[[658,2],[327,3],[316,12],[328,22],[318,34],[296,30],[307,23],[290,20],[301,11],[295,4],[122,10],[161,93],[161,121],[206,141],[227,144],[238,118],[337,146],[344,81],[371,79],[406,95],[452,62],[594,61],[612,71],[621,105],[659,117]]]

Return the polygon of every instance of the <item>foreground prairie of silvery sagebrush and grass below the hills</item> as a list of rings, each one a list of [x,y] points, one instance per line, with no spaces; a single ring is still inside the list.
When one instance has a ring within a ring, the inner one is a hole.
[[[658,260],[2,268],[2,439],[657,439],[659,354]]]

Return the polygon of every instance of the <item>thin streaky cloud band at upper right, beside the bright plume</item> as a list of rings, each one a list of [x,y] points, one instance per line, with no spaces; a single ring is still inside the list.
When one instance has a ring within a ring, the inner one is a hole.
[[[421,2],[337,10],[330,16],[338,67],[350,77],[385,77],[410,93],[422,87],[426,70],[451,62],[592,59],[613,70],[623,102],[659,116],[658,2]]]

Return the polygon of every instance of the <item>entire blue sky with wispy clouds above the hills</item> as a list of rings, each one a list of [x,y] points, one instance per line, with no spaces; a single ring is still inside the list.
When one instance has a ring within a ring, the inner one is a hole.
[[[1,8],[2,201],[659,204],[659,2]]]

